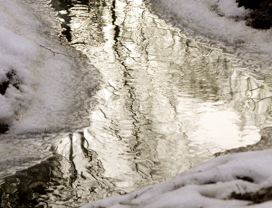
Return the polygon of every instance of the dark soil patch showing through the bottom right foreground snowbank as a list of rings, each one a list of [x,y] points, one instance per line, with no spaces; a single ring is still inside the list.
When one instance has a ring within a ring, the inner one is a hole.
[[[244,194],[236,194],[235,192],[231,193],[232,199],[247,200],[252,201],[253,203],[262,203],[265,201],[272,200],[272,187],[263,188],[259,192],[251,192]]]

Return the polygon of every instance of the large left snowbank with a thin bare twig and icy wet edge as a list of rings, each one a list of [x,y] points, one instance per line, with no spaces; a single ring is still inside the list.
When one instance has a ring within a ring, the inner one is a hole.
[[[59,23],[45,1],[0,4],[1,176],[33,165],[58,135],[88,125],[100,75],[57,37]]]

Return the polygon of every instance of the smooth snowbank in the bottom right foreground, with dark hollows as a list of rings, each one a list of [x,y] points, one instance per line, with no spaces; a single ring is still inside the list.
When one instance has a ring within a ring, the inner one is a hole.
[[[81,208],[271,207],[272,150],[224,155],[169,181]]]

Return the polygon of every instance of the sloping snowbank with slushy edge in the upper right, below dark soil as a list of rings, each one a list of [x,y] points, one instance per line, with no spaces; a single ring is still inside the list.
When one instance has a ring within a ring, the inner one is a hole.
[[[237,59],[235,66],[246,68],[271,87],[272,29],[246,26],[252,11],[237,7],[235,0],[146,0],[151,13],[166,19],[181,33],[210,47],[220,48]]]

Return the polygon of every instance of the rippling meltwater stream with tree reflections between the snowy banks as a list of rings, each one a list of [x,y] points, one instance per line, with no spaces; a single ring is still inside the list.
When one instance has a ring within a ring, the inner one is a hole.
[[[48,160],[0,179],[1,207],[78,207],[135,191],[253,145],[269,126],[271,95],[260,81],[141,0],[50,4],[62,38],[105,84],[89,127],[61,139]]]

